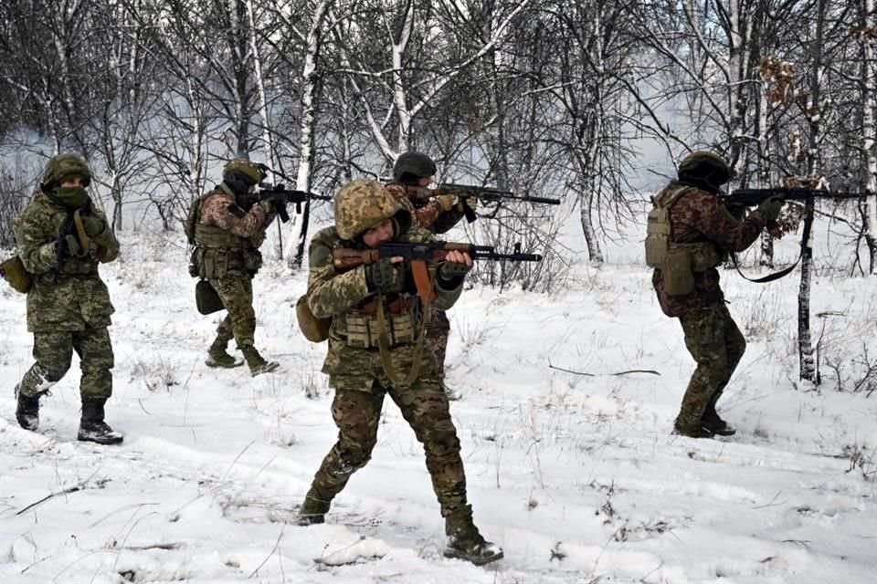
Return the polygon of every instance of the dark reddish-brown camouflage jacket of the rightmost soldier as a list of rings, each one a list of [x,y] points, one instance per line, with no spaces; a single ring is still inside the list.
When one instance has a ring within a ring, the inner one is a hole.
[[[673,181],[660,194],[679,188]],[[767,220],[758,211],[738,220],[721,203],[719,197],[699,189],[692,189],[673,204],[670,210],[671,242],[692,244],[710,242],[720,251],[741,252],[755,242]],[[660,309],[668,317],[681,317],[696,308],[706,308],[724,302],[719,285],[719,272],[711,267],[694,274],[694,289],[690,294],[670,296],[664,292],[660,269],[651,277],[658,294]]]

